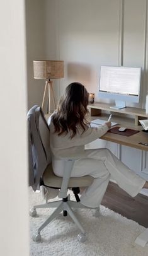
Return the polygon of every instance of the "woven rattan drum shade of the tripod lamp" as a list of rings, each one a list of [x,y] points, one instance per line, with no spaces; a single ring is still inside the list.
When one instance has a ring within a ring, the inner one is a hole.
[[[64,78],[64,61],[33,61],[35,79]]]

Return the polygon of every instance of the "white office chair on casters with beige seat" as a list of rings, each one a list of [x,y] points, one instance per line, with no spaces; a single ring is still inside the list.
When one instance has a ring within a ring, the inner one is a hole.
[[[52,170],[51,163],[51,153],[50,153],[50,131],[48,128],[48,124],[43,115],[42,109],[38,106],[34,106],[28,112],[28,134],[29,134],[29,151],[30,151],[30,160],[31,167],[29,173],[29,177],[33,178],[33,182],[30,182],[30,185],[33,187],[33,190],[37,189],[37,180],[38,173],[37,167],[40,166],[40,161],[42,162],[42,166],[44,166],[44,170],[41,170],[43,173],[40,177],[39,184],[45,187],[50,187],[52,189],[60,189],[59,190],[59,198],[60,201],[52,201],[48,202],[46,200],[45,204],[33,206],[30,210],[30,216],[34,217],[37,215],[36,209],[38,208],[52,208],[55,207],[55,211],[48,217],[48,219],[38,228],[37,234],[33,236],[33,241],[41,241],[40,232],[47,226],[60,212],[63,211],[64,216],[71,216],[74,223],[77,224],[78,228],[81,230],[81,233],[77,236],[77,239],[81,242],[86,241],[86,233],[83,229],[83,226],[76,218],[72,208],[76,209],[85,209],[88,207],[83,206],[79,199],[79,187],[87,187],[91,185],[93,182],[93,177],[86,175],[84,177],[78,178],[70,178],[72,166],[74,165],[75,159],[65,158],[65,168],[64,168],[64,177],[57,177]],[[38,140],[38,142],[37,142]],[[40,146],[40,148],[38,148]],[[45,154],[44,162],[43,162],[43,154]],[[46,167],[45,167],[46,166]],[[39,172],[39,171],[38,171]],[[74,195],[76,197],[76,201],[70,200],[70,195],[67,195],[67,190],[72,189]],[[99,216],[100,209],[96,208],[95,216]]]

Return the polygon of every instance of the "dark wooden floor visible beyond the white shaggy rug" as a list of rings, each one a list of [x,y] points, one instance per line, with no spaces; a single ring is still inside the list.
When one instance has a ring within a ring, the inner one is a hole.
[[[130,197],[117,184],[110,182],[101,204],[148,228],[147,196],[138,194],[134,198]]]

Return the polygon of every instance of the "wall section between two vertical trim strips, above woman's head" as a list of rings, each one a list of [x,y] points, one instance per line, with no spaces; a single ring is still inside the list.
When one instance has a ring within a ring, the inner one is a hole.
[[[118,0],[58,3],[59,55],[65,62],[60,91],[80,81],[97,95],[100,63],[118,65]]]

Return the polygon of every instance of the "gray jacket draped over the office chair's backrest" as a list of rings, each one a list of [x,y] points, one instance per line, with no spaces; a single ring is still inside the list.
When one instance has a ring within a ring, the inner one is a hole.
[[[45,150],[42,140],[40,138],[40,132],[38,129],[38,122],[40,115],[45,120],[42,109],[35,105],[30,109],[27,114],[28,120],[28,152],[29,152],[29,185],[33,190],[37,190],[37,186],[40,185],[40,178],[43,172],[47,168],[47,165],[51,163],[50,150]],[[46,120],[45,120],[45,123]],[[47,129],[49,127],[47,124]],[[50,132],[50,131],[49,131]],[[38,161],[40,159],[40,161]]]

